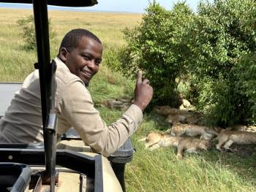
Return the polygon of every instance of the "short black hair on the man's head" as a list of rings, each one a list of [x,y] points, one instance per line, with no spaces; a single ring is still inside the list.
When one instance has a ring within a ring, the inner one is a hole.
[[[59,47],[59,53],[61,51],[61,47],[65,47],[69,52],[72,51],[73,48],[78,47],[78,43],[82,37],[89,37],[102,44],[99,38],[91,33],[91,31],[84,28],[75,28],[69,31],[62,39],[61,46]]]

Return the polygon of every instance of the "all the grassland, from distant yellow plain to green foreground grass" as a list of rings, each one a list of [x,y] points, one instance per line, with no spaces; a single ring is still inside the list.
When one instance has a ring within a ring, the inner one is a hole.
[[[31,10],[0,9],[0,81],[22,82],[37,61],[34,51],[23,50],[23,39],[17,20],[31,15]],[[49,18],[57,38],[51,42],[54,58],[64,34],[72,28],[88,28],[102,39],[105,56],[111,48],[125,44],[121,30],[132,28],[141,15],[104,12],[50,11]],[[108,69],[104,59],[99,74],[90,85],[97,103],[105,99],[132,96],[133,82]],[[120,117],[121,111],[99,107],[102,118],[109,124]],[[127,191],[256,191],[256,153],[219,153],[213,149],[199,155],[176,160],[176,150],[162,148],[149,152],[138,139],[150,131],[165,131],[164,118],[148,112],[132,137],[136,148],[133,161],[127,164]],[[255,147],[255,146],[252,146]],[[255,150],[254,150],[255,151]]]

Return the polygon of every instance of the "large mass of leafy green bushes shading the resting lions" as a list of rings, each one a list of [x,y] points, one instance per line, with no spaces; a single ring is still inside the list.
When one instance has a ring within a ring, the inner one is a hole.
[[[182,2],[167,11],[153,1],[142,23],[124,30],[128,45],[115,67],[127,76],[142,69],[153,104],[175,106],[180,92],[208,124],[255,123],[255,65],[241,59],[256,51],[255,16],[252,0],[201,1],[197,14]]]

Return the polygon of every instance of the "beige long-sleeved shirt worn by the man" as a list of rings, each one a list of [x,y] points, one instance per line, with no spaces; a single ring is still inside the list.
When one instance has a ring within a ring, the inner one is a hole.
[[[131,136],[142,120],[140,108],[132,104],[121,118],[110,126],[94,108],[91,95],[79,77],[55,59],[57,133],[64,134],[73,127],[93,150],[105,156],[114,153]],[[1,143],[42,142],[42,115],[39,73],[35,70],[15,93],[10,107],[0,120]]]

